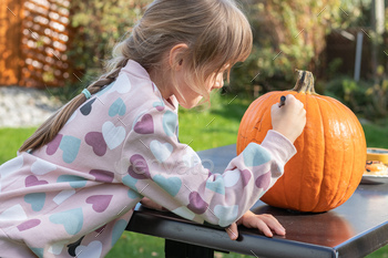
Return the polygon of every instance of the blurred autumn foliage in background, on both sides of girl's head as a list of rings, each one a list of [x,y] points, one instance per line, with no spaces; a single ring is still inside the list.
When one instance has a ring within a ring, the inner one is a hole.
[[[74,74],[82,82],[72,81],[55,91],[70,99],[94,81],[103,72],[104,61],[111,58],[114,44],[131,33],[131,28],[150,2],[73,0],[68,55]],[[251,56],[232,70],[231,85],[226,85],[222,93],[253,100],[268,91],[289,90],[295,84],[295,69],[302,69],[315,74],[319,94],[340,100],[358,115],[370,120],[388,115],[388,20],[385,20],[382,34],[374,32],[372,0],[239,2],[252,24],[254,48]],[[388,0],[385,0],[385,7],[387,14]],[[351,71],[355,52],[348,58],[336,58],[329,47],[330,42],[338,42],[343,48],[345,44],[345,48],[355,50],[355,38],[360,30],[366,33],[363,73],[361,80],[355,81]],[[338,38],[350,40],[344,43]],[[369,58],[374,48],[378,53],[375,70]]]

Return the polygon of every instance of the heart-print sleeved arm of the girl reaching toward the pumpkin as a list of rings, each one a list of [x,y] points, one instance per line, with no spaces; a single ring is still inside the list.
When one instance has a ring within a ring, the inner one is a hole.
[[[116,169],[123,184],[201,224],[227,227],[239,219],[283,175],[284,165],[296,153],[292,142],[269,131],[261,145],[251,143],[224,172],[214,172],[202,164],[212,166],[211,161],[201,161],[178,142],[176,114],[155,107],[137,121],[152,130],[134,127],[129,133]]]

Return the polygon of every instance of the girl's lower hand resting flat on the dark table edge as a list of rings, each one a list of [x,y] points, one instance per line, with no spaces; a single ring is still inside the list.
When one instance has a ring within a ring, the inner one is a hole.
[[[243,224],[247,228],[257,228],[264,233],[267,237],[273,237],[273,230],[280,236],[286,235],[286,229],[277,221],[277,219],[269,214],[256,215],[251,210],[246,211],[237,223],[232,224],[226,228],[226,233],[232,240],[236,240],[238,237],[237,225]]]

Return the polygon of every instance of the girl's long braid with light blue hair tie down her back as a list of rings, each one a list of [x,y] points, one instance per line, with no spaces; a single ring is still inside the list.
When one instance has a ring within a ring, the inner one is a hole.
[[[127,63],[129,59],[125,56],[119,56],[112,60],[111,64],[114,63],[114,68],[100,76],[99,80],[90,84],[86,89],[91,94],[98,93],[104,85],[108,85],[115,81],[123,66]],[[113,65],[112,65],[113,66]],[[19,152],[25,152],[28,149],[37,149],[43,145],[50,143],[64,126],[70,116],[74,111],[80,107],[86,97],[83,93],[80,93],[73,97],[62,109],[51,115],[19,148]]]

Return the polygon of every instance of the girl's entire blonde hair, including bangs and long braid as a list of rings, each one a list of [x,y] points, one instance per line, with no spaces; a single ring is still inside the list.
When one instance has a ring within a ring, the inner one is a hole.
[[[129,60],[145,70],[160,69],[163,55],[174,45],[185,43],[191,62],[185,80],[208,101],[204,82],[229,65],[244,61],[252,50],[251,25],[233,0],[155,0],[145,10],[132,33],[113,49],[106,73],[86,89],[91,94],[113,82]],[[187,64],[186,64],[187,65]],[[172,69],[173,71],[173,69]],[[175,85],[178,89],[178,85]],[[79,94],[45,121],[20,147],[39,148],[51,142],[73,112],[86,101]]]

